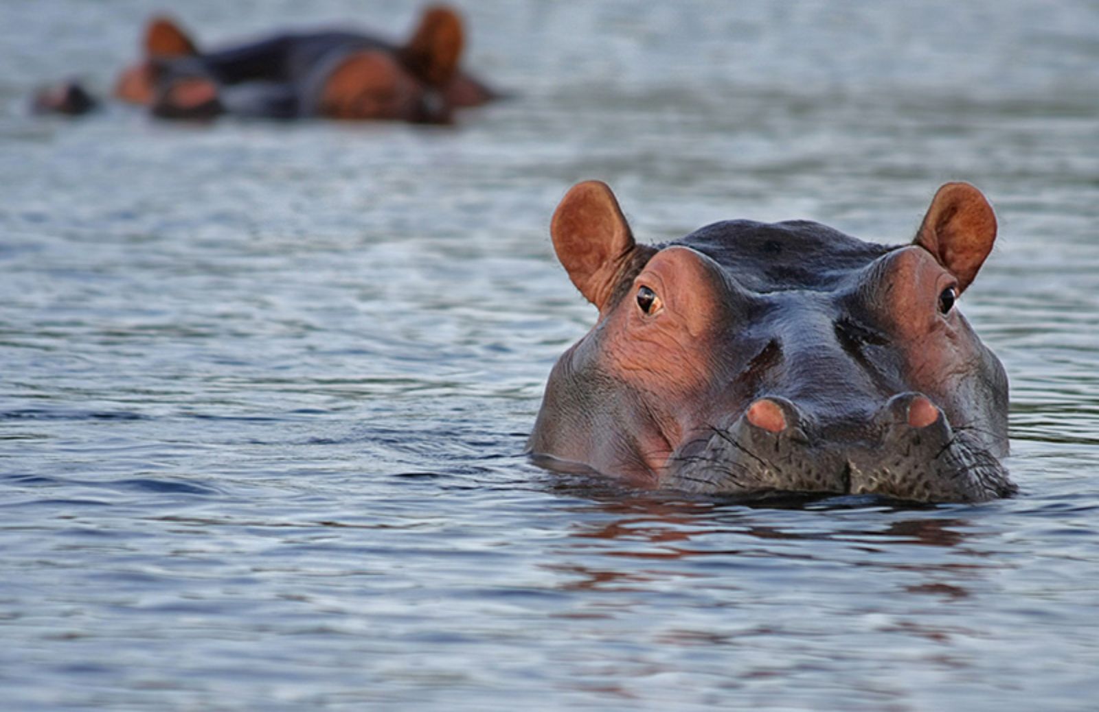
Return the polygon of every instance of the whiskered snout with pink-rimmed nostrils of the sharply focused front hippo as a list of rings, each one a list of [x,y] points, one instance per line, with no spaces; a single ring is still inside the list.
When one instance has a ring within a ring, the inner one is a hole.
[[[920,393],[862,422],[821,422],[791,400],[753,402],[669,457],[665,483],[700,494],[801,491],[917,501],[981,501],[1014,491],[981,440]]]

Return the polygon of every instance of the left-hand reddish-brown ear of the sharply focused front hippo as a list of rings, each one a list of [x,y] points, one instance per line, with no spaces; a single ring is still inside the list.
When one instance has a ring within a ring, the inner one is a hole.
[[[602,310],[637,249],[614,193],[600,181],[577,183],[554,211],[550,234],[573,284]]]

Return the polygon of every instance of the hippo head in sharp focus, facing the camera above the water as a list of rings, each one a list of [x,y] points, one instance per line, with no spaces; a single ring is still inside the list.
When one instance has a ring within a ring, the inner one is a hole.
[[[551,235],[599,316],[554,365],[528,450],[699,495],[1009,496],[1008,378],[958,308],[996,231],[955,182],[907,245],[733,219],[647,246],[610,188],[578,183]]]

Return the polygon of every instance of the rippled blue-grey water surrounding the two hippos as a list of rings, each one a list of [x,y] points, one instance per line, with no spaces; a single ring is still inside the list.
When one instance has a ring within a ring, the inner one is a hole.
[[[471,65],[521,97],[454,129],[25,115],[109,86],[156,7],[0,5],[3,709],[1096,709],[1095,2],[479,1]],[[1020,495],[748,508],[529,464],[595,316],[546,228],[584,178],[648,240],[903,241],[979,185],[963,309]]]

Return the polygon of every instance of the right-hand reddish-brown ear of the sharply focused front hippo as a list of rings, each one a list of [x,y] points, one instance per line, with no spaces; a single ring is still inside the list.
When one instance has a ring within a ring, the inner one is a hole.
[[[935,256],[965,291],[996,241],[996,214],[969,183],[946,183],[931,201],[914,244]]]

